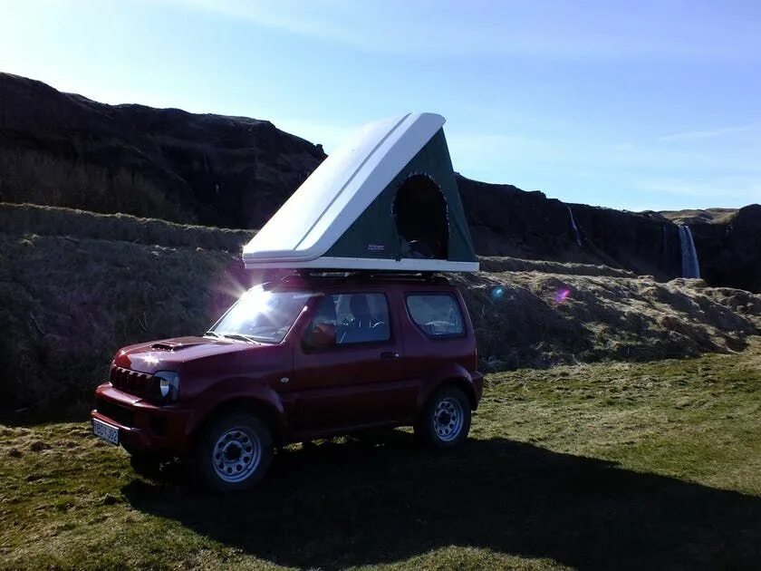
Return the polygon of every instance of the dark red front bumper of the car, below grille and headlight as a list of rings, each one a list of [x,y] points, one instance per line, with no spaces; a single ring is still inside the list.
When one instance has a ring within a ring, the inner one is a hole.
[[[119,429],[120,444],[132,451],[178,456],[190,448],[193,412],[175,404],[159,406],[115,389],[111,382],[95,390],[92,419]]]

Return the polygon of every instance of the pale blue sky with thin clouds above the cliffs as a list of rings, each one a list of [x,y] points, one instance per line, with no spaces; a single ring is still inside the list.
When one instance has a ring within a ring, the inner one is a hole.
[[[447,117],[455,169],[613,208],[761,202],[761,3],[0,0],[0,71],[330,152]]]

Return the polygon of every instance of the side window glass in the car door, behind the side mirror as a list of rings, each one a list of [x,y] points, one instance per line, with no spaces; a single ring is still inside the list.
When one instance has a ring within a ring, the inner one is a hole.
[[[378,343],[391,337],[389,304],[382,294],[325,295],[307,329],[314,348]]]

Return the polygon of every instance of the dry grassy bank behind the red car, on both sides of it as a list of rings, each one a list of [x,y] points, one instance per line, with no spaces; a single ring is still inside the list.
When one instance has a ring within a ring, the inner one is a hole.
[[[31,205],[0,205],[0,228],[6,414],[82,414],[120,346],[206,331],[249,279],[246,231]],[[699,280],[510,258],[485,268],[500,271],[453,280],[490,371],[730,353],[761,325],[761,295]]]

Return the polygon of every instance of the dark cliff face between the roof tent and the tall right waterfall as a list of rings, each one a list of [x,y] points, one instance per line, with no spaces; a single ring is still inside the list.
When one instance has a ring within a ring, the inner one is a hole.
[[[476,251],[679,276],[679,232],[660,214],[566,205],[542,192],[458,177]],[[576,231],[578,231],[578,242]]]

